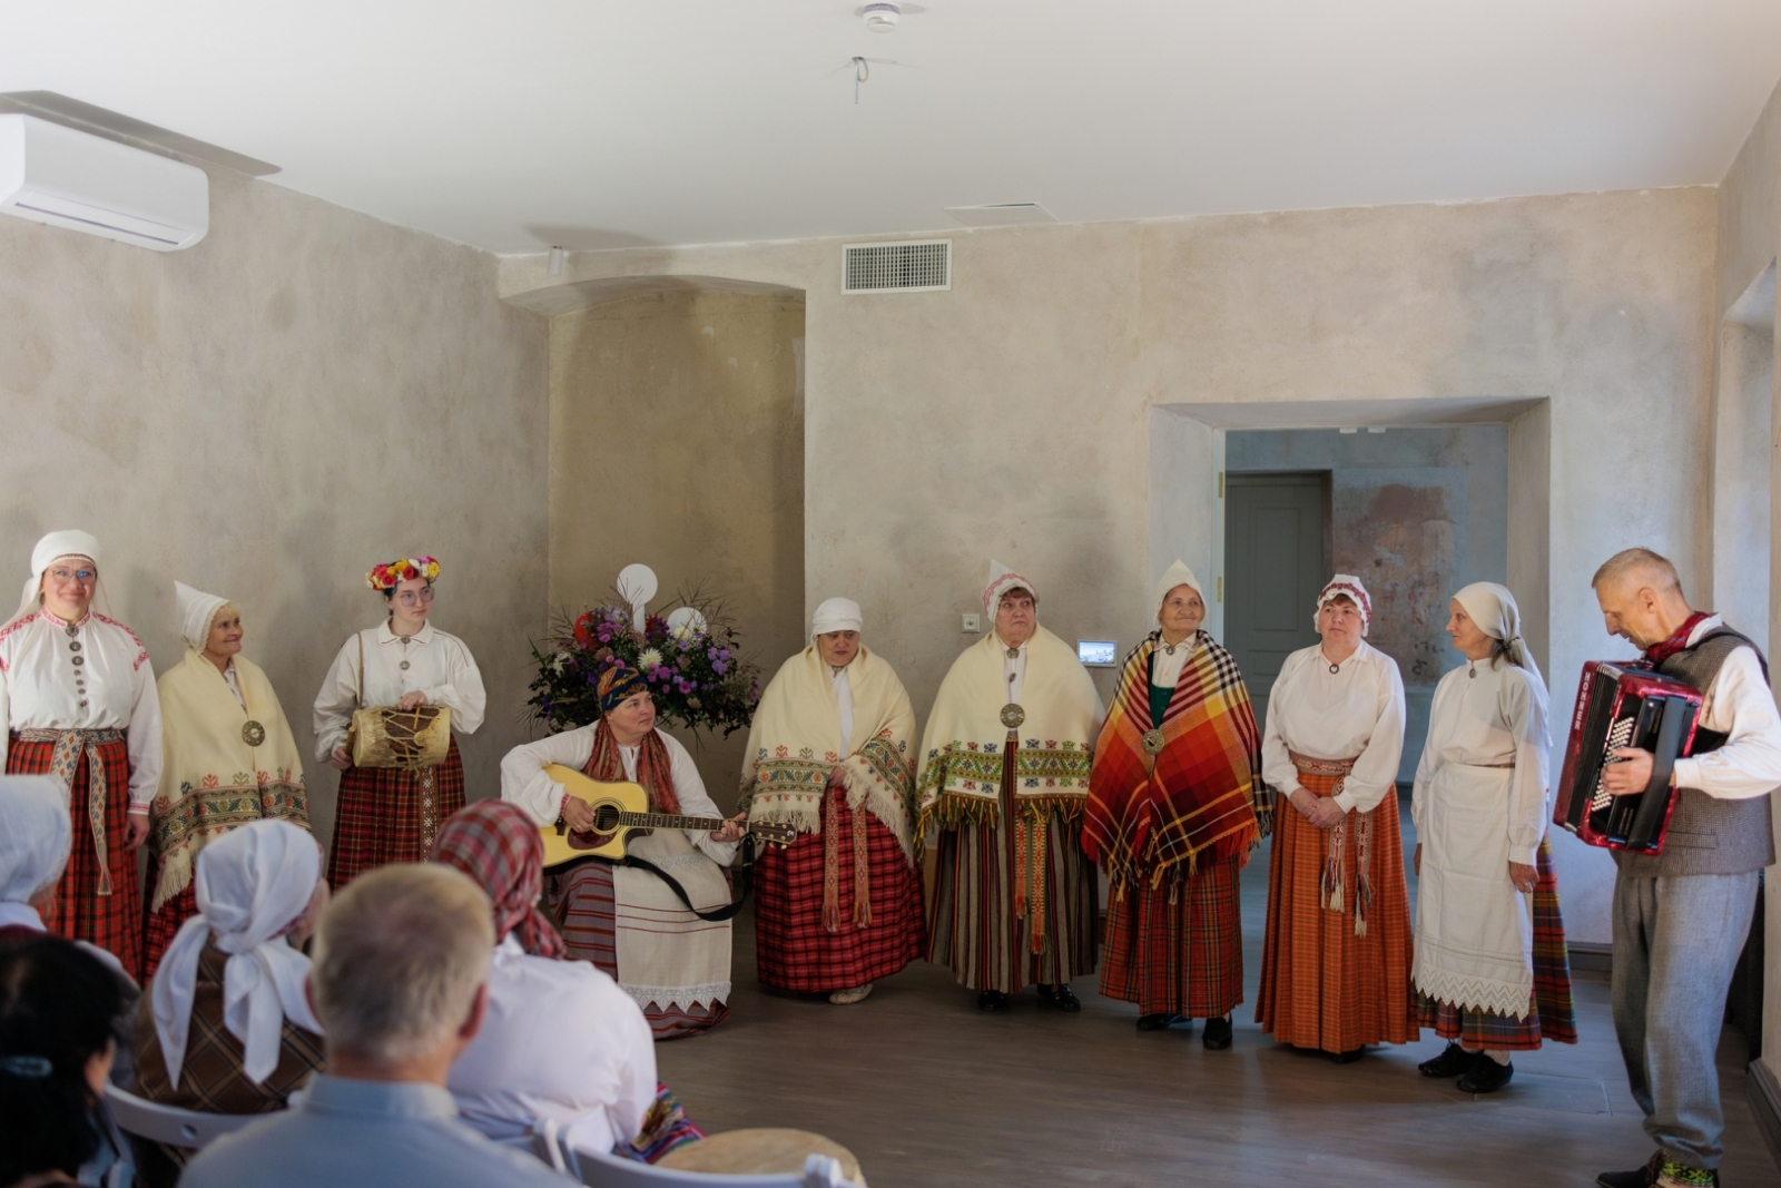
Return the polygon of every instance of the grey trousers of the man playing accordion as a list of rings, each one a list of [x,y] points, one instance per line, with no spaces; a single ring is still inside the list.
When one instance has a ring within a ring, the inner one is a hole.
[[[1726,1129],[1713,1054],[1756,912],[1758,871],[1614,882],[1614,1031],[1646,1135],[1717,1170]]]

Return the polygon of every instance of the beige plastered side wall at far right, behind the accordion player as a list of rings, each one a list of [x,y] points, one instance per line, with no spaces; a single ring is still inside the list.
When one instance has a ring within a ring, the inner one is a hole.
[[[1719,278],[1715,292],[1715,322],[1744,296],[1751,283],[1781,249],[1781,87],[1769,96],[1769,105],[1738,150],[1738,159],[1719,187]],[[1733,330],[1715,335],[1720,349],[1749,347],[1751,338]],[[1774,351],[1777,335],[1769,335]],[[1777,369],[1770,358],[1770,387]],[[1736,388],[1747,360],[1720,358],[1720,387]],[[1758,369],[1760,370],[1760,369]],[[1781,410],[1770,394],[1770,424],[1781,424]],[[1769,639],[1781,639],[1781,467],[1776,467],[1776,440],[1769,442],[1770,506],[1769,506]],[[1772,663],[1772,657],[1770,657]],[[1781,809],[1781,805],[1777,805]],[[1776,837],[1781,842],[1781,812],[1776,814]],[[1781,903],[1776,901],[1777,867],[1767,873],[1767,935],[1763,969],[1763,1063],[1781,1076]]]

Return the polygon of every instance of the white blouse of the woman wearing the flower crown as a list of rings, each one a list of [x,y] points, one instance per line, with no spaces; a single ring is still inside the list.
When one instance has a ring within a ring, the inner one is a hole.
[[[365,641],[365,689],[358,688],[358,641]],[[424,625],[403,639],[388,623],[349,636],[315,695],[315,757],[346,745],[353,711],[395,705],[404,693],[426,693],[429,705],[451,709],[451,728],[476,734],[488,709],[483,673],[458,636]]]

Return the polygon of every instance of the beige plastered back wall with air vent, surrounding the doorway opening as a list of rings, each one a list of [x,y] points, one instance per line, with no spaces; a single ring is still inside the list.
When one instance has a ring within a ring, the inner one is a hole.
[[[1151,406],[1549,397],[1539,659],[1564,712],[1582,661],[1626,654],[1596,565],[1649,543],[1690,579],[1710,566],[1715,221],[1708,187],[1574,194],[956,232],[949,292],[842,296],[841,240],[577,253],[561,278],[506,258],[502,292],[805,290],[805,602],[858,598],[917,714],[992,556],[1065,638],[1147,627]],[[1606,940],[1612,866],[1555,846],[1573,935]]]

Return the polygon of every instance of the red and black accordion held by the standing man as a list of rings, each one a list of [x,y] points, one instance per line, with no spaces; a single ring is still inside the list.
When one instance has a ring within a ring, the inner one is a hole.
[[[1571,712],[1553,825],[1590,846],[1662,853],[1676,809],[1671,769],[1694,748],[1699,716],[1701,691],[1674,677],[1614,661],[1587,661]],[[1637,746],[1656,757],[1646,791],[1608,796],[1601,787],[1603,769],[1617,762],[1617,746]]]

